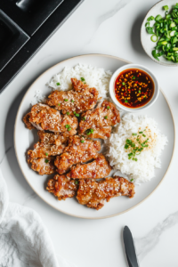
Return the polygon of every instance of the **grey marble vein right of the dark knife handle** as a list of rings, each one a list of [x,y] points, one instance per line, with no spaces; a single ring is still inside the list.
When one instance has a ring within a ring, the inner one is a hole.
[[[150,250],[157,246],[160,236],[176,223],[178,223],[178,211],[168,215],[163,222],[158,223],[144,238],[134,239],[139,262],[149,254]]]

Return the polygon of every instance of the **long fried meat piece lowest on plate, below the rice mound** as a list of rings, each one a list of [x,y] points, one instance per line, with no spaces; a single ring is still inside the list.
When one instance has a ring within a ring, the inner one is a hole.
[[[99,210],[104,206],[105,200],[109,202],[110,198],[117,196],[134,198],[134,183],[119,176],[109,177],[100,182],[91,179],[79,181],[77,190],[79,204]]]

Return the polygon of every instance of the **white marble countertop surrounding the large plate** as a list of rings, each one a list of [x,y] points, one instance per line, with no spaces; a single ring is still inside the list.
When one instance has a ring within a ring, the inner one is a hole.
[[[0,164],[11,201],[35,209],[50,232],[56,254],[78,267],[127,266],[121,239],[125,225],[134,234],[142,267],[178,266],[177,146],[164,182],[140,206],[110,219],[78,219],[45,204],[21,174],[13,148],[16,112],[28,86],[45,69],[79,54],[105,53],[152,69],[178,127],[177,68],[151,61],[140,41],[142,20],[156,3],[156,0],[85,0],[0,95]]]

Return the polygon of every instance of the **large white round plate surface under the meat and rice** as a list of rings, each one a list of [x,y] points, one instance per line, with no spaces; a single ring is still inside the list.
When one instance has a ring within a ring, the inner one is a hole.
[[[150,194],[158,187],[158,184],[165,177],[174,152],[174,118],[162,92],[159,93],[158,100],[149,109],[142,111],[142,114],[147,114],[149,117],[154,117],[156,119],[158,127],[163,134],[166,134],[169,142],[161,156],[162,168],[156,170],[156,177],[150,182],[144,183],[141,186],[136,186],[134,198],[112,198],[109,203],[106,203],[99,211],[79,205],[76,198],[69,198],[66,201],[57,200],[57,198],[54,198],[52,194],[45,190],[49,176],[36,174],[36,172],[31,170],[28,166],[26,153],[29,148],[33,148],[37,134],[36,130],[29,131],[25,127],[22,122],[22,117],[30,109],[30,101],[33,99],[36,90],[39,89],[42,90],[44,94],[49,94],[51,90],[45,86],[46,82],[48,82],[54,74],[60,72],[64,67],[73,67],[77,63],[91,64],[97,68],[109,69],[114,72],[119,67],[122,67],[130,62],[109,55],[88,54],[62,61],[61,63],[53,66],[51,69],[46,70],[44,74],[38,77],[33,85],[29,87],[20,103],[14,127],[15,151],[24,177],[31,188],[36,191],[36,194],[40,198],[44,199],[46,203],[62,213],[69,214],[71,216],[87,219],[108,218],[122,214],[140,204],[145,198],[150,196]],[[138,112],[138,114],[140,113]]]

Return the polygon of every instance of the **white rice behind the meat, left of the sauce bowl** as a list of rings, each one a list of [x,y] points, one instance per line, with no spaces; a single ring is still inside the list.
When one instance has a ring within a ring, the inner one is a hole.
[[[53,90],[67,91],[72,89],[71,77],[76,77],[80,80],[85,78],[85,82],[90,87],[95,87],[99,96],[106,98],[109,96],[109,80],[112,72],[109,70],[92,67],[91,65],[77,64],[73,68],[65,67],[60,73],[55,74],[47,83]],[[57,85],[60,83],[60,85]]]

